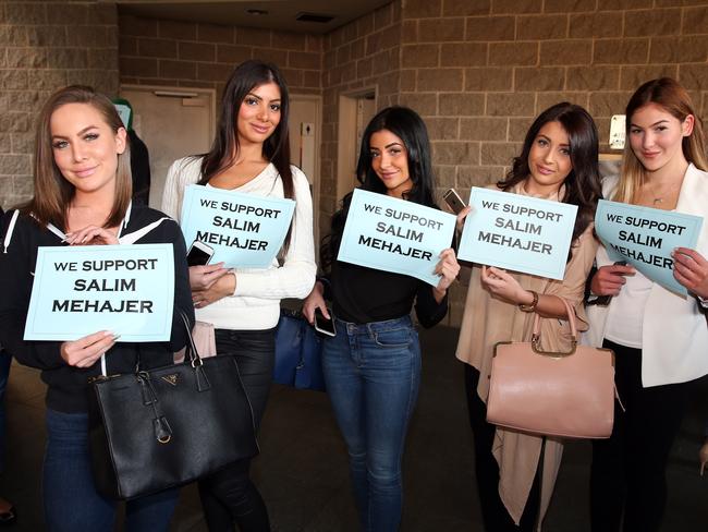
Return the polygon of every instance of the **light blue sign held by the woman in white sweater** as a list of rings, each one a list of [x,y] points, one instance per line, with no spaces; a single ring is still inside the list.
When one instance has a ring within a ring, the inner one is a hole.
[[[180,226],[187,247],[198,240],[213,250],[210,263],[267,268],[285,240],[295,202],[192,184],[184,192]]]

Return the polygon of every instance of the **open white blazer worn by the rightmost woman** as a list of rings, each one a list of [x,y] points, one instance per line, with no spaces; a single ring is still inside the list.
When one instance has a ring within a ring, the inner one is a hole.
[[[607,178],[602,194],[611,197],[617,177]],[[703,216],[696,251],[708,257],[708,172],[689,165],[681,185],[676,211]],[[597,267],[612,264],[602,245],[596,255]],[[610,305],[612,301],[610,301]],[[590,324],[583,343],[600,347],[609,306],[586,309]],[[685,383],[708,374],[708,327],[696,298],[681,297],[652,283],[642,327],[642,383],[645,388]]]

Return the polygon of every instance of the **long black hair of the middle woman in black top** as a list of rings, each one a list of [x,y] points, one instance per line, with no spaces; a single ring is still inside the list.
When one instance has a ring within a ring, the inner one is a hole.
[[[362,135],[362,147],[356,164],[356,179],[362,183],[359,189],[379,194],[387,193],[386,185],[371,167],[370,148],[371,135],[383,130],[388,130],[401,138],[407,153],[408,176],[413,186],[403,194],[403,198],[426,207],[438,208],[435,202],[435,177],[430,164],[428,130],[418,113],[407,107],[387,107],[380,110],[366,126]],[[332,215],[330,234],[322,239],[320,264],[326,270],[337,259],[351,202],[352,193],[350,192],[342,200],[342,207]]]

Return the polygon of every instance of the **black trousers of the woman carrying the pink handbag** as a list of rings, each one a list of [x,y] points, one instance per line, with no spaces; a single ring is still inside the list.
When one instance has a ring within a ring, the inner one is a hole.
[[[465,390],[475,444],[475,473],[477,475],[477,492],[481,506],[481,517],[487,532],[532,532],[538,518],[540,506],[540,468],[532,485],[526,507],[518,525],[514,523],[499,496],[499,464],[491,452],[497,426],[487,423],[487,406],[477,395],[479,372],[465,364]],[[542,459],[542,450],[541,450]]]

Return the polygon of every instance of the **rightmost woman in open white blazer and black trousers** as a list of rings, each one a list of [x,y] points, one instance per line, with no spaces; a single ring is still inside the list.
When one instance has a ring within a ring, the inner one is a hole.
[[[708,161],[699,117],[686,90],[662,77],[642,85],[626,107],[622,173],[603,183],[615,202],[708,217]],[[666,464],[681,425],[689,383],[708,374],[708,223],[695,250],[673,252],[674,277],[687,297],[614,265],[600,246],[591,279],[586,340],[614,351],[612,436],[594,440],[590,515],[594,532],[659,529]],[[612,297],[609,305],[591,303]],[[624,515],[624,517],[622,517]],[[621,527],[622,525],[622,527]]]

